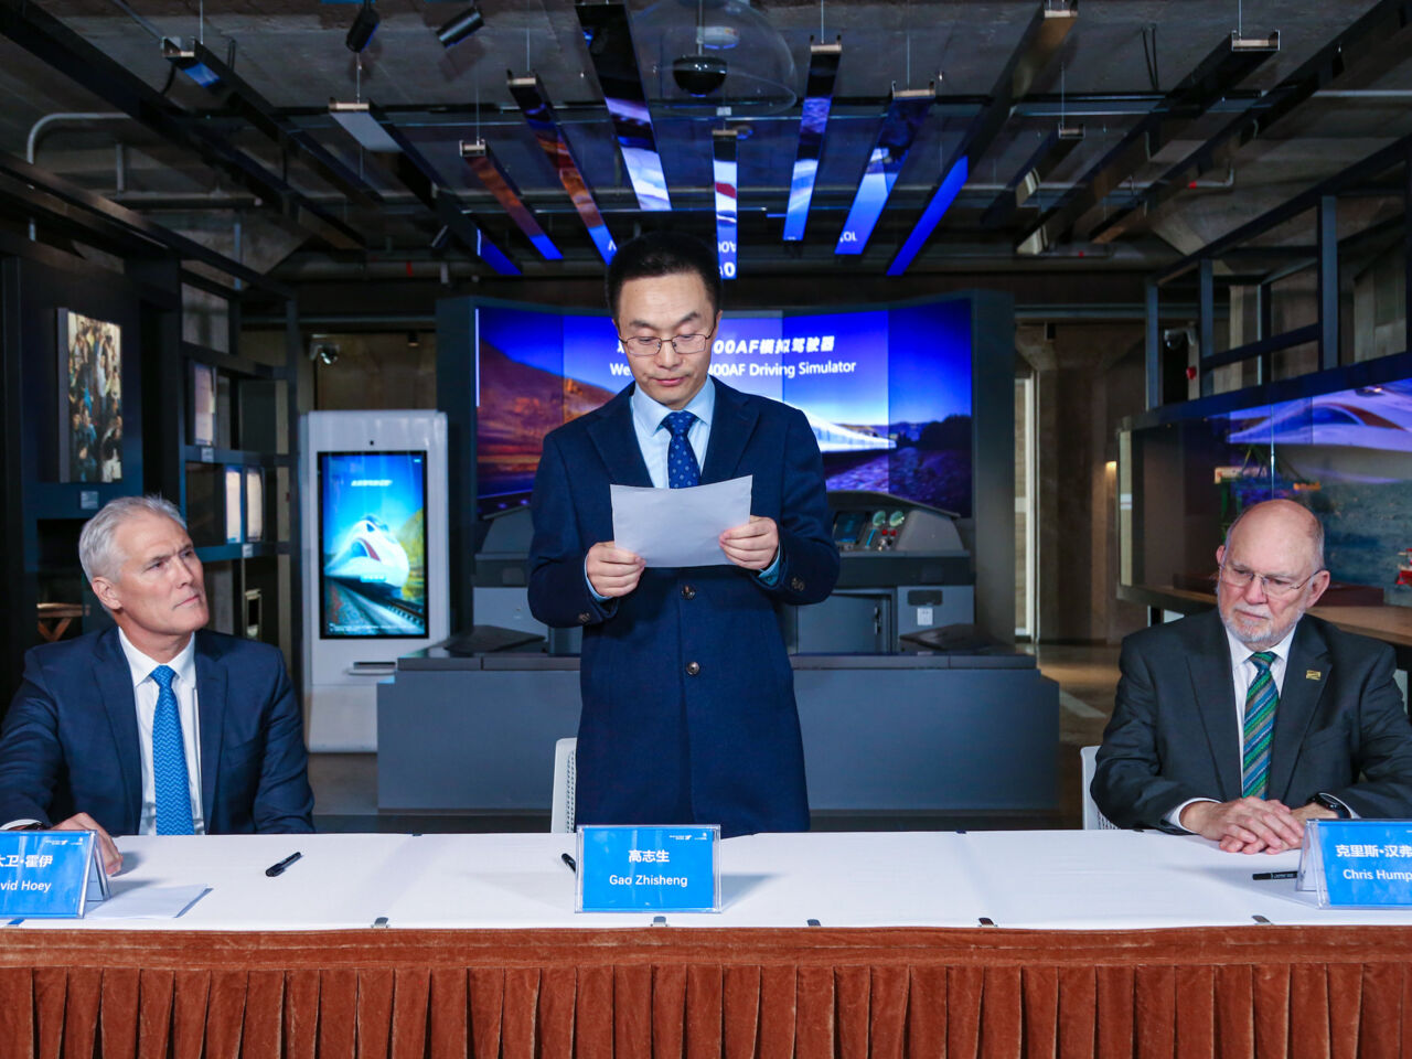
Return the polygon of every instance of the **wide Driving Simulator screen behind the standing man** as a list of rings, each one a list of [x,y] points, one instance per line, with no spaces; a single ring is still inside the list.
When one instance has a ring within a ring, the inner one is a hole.
[[[476,366],[480,514],[528,503],[544,436],[633,381],[613,322],[481,305]],[[726,316],[710,373],[799,408],[829,489],[971,513],[970,302]]]

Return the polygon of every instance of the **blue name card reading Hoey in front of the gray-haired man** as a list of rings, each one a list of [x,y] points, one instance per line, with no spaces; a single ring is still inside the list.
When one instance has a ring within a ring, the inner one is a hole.
[[[93,832],[0,832],[0,916],[71,919],[107,897]]]

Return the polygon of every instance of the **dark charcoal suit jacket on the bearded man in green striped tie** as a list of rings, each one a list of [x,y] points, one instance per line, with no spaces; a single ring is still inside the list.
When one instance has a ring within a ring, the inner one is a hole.
[[[1091,794],[1120,827],[1173,830],[1192,798],[1241,795],[1230,645],[1210,611],[1123,641],[1113,719]],[[1412,723],[1392,648],[1306,614],[1295,627],[1275,712],[1267,798],[1295,809],[1315,794],[1360,816],[1412,818]]]

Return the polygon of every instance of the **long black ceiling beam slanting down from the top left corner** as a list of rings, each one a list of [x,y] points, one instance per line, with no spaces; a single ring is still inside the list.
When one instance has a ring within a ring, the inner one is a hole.
[[[202,128],[193,114],[150,88],[37,4],[0,0],[0,35],[162,138],[225,172],[261,201],[277,205],[284,216],[330,246],[346,250],[364,244],[354,229],[309,202],[254,158],[232,147],[220,133]]]

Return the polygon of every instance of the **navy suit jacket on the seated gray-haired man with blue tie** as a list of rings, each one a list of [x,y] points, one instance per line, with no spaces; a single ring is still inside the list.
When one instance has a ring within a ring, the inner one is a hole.
[[[0,823],[86,812],[137,833],[143,760],[117,630],[44,644],[0,729]],[[196,633],[201,799],[209,834],[312,832],[304,722],[280,651]]]

